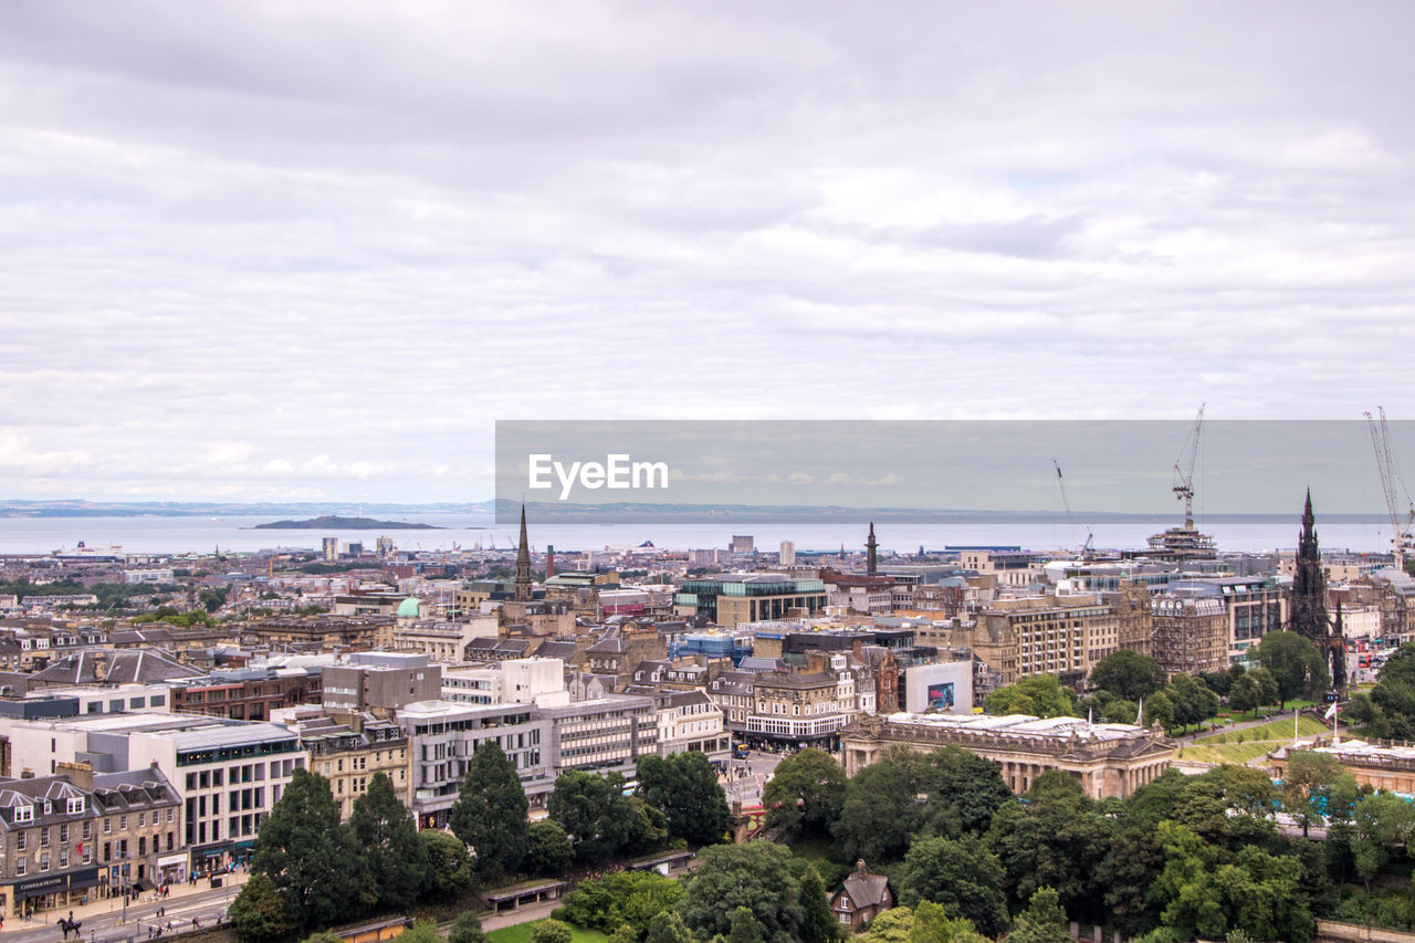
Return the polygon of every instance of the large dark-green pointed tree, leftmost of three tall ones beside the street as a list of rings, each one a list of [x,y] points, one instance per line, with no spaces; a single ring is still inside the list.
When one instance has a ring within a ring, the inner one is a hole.
[[[270,878],[297,930],[350,916],[364,886],[362,861],[327,779],[294,767],[260,823],[250,871]]]

